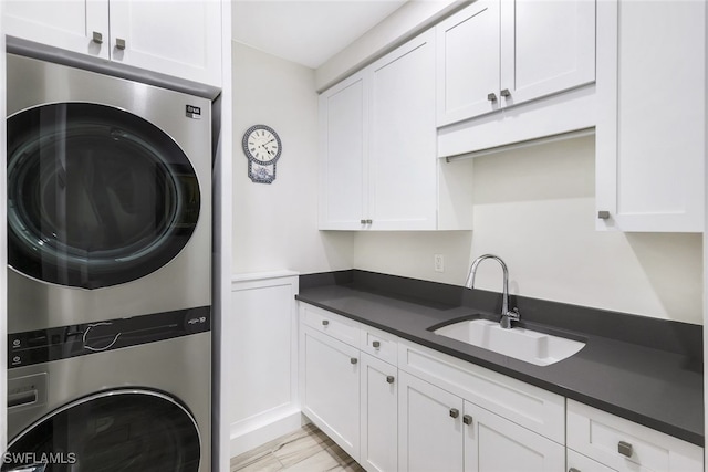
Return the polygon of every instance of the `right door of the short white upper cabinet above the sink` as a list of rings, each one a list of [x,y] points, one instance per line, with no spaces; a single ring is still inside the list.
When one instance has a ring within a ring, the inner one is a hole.
[[[503,106],[595,81],[594,0],[501,2]]]

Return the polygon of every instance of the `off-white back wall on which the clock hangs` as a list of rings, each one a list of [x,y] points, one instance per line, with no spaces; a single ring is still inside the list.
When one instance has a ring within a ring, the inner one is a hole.
[[[246,129],[278,132],[282,155],[270,185],[248,178]],[[232,273],[350,269],[352,237],[317,227],[317,95],[314,71],[233,43]]]

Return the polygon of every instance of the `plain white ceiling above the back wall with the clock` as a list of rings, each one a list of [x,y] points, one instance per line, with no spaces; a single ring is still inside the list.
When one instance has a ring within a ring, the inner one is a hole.
[[[407,0],[232,0],[233,40],[316,69]]]

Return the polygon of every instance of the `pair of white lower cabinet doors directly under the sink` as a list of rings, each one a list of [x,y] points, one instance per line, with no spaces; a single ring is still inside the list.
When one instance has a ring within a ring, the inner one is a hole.
[[[398,400],[400,470],[563,470],[563,444],[404,371]]]

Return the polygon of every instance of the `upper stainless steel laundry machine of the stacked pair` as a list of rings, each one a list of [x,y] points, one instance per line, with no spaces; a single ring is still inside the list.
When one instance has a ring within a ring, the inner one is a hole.
[[[210,305],[206,98],[8,54],[8,331]]]

